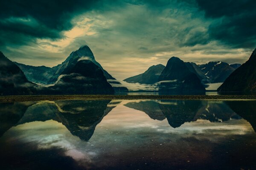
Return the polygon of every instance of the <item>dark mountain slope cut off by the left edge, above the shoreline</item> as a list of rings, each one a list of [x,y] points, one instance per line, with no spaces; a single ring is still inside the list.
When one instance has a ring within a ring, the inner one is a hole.
[[[39,86],[29,82],[21,69],[0,52],[0,95],[36,94]]]

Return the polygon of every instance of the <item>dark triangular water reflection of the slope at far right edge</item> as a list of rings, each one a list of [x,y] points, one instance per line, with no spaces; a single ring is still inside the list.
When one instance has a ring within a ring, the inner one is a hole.
[[[246,119],[256,132],[256,101],[225,101],[225,103]]]

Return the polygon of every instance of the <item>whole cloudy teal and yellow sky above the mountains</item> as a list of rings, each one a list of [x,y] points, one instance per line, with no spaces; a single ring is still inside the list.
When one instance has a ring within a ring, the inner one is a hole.
[[[55,66],[88,45],[117,79],[185,62],[243,63],[256,48],[255,0],[8,0],[0,2],[0,51]]]

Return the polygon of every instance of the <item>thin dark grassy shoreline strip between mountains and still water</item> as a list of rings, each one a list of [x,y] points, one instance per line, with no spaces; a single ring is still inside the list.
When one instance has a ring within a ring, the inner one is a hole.
[[[175,99],[175,100],[256,100],[256,95],[24,95],[0,96],[0,102],[29,102],[42,100],[134,100],[134,99]]]

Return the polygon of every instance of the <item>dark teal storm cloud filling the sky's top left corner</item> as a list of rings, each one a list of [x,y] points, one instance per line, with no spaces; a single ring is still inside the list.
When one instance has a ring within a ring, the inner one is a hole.
[[[26,44],[33,38],[61,38],[70,20],[96,0],[5,0],[0,3],[0,44]]]

